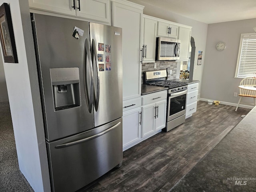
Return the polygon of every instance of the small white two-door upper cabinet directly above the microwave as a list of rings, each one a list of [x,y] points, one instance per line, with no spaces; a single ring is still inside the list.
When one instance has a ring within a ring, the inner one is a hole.
[[[158,22],[157,35],[170,38],[178,38],[178,29],[178,25],[176,26],[167,22]]]

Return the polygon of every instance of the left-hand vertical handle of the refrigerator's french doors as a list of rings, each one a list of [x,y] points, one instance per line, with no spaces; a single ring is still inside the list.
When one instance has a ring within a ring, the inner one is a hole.
[[[93,103],[93,72],[92,72],[92,58],[90,55],[90,43],[89,40],[86,38],[85,40],[85,57],[86,59],[86,64],[84,65],[84,84],[85,84],[85,89],[86,89],[86,102],[88,106],[88,110],[91,113],[92,112],[92,103]],[[88,71],[87,69],[87,64],[88,64]],[[90,87],[88,88],[87,84],[87,76],[89,76],[90,79]]]

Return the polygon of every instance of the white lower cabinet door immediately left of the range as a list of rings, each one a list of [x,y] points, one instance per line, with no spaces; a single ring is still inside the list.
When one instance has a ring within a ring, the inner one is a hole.
[[[166,105],[167,100],[156,103],[156,119],[155,119],[155,130],[165,128],[166,126]]]

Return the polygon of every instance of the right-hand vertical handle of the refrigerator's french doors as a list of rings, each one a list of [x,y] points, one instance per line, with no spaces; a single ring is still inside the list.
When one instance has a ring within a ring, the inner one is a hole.
[[[99,107],[99,100],[100,100],[100,71],[99,71],[99,68],[98,68],[98,56],[97,56],[97,49],[96,49],[96,43],[95,43],[95,40],[92,39],[92,65],[93,65],[93,69],[96,69],[96,72],[97,72],[97,91],[95,92],[94,90],[94,108],[96,111],[98,111],[98,107]],[[94,60],[95,60],[95,63],[94,63]],[[96,66],[94,68],[94,66]],[[95,84],[95,82],[94,82]]]

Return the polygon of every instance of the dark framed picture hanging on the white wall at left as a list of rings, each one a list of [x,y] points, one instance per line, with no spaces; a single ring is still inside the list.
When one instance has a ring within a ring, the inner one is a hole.
[[[11,12],[7,3],[0,6],[0,40],[4,62],[18,63]]]

